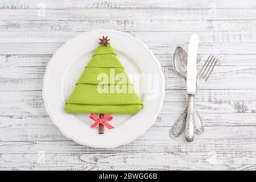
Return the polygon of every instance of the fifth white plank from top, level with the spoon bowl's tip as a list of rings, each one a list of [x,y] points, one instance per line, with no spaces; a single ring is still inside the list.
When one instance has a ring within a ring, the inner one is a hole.
[[[63,43],[0,43],[0,55],[52,55]],[[151,43],[147,47],[156,55],[170,55],[177,46],[188,48],[188,43]],[[202,55],[255,55],[256,43],[200,43]]]

